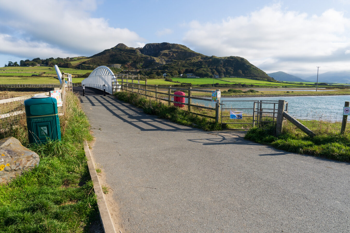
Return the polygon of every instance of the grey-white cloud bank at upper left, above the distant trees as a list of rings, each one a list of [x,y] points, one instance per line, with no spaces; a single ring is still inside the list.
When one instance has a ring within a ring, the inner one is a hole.
[[[96,0],[0,1],[0,28],[9,31],[0,31],[0,53],[44,58],[90,56],[118,43],[144,44],[137,33],[91,17],[89,12],[96,8]]]

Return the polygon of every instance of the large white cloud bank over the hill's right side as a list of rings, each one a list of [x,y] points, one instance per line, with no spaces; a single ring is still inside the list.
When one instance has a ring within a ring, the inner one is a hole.
[[[193,21],[188,27],[183,40],[195,51],[244,57],[266,72],[285,71],[290,65],[303,68],[307,60],[320,58],[332,63],[339,51],[345,54],[350,49],[350,20],[334,9],[309,16],[273,5],[220,23]],[[348,61],[346,56],[338,63],[343,67]]]

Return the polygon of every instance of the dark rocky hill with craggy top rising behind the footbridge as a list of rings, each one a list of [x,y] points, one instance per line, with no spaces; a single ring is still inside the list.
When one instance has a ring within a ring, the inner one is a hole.
[[[181,44],[151,43],[144,48],[130,48],[125,44],[106,49],[75,66],[86,65],[94,68],[100,65],[121,64],[122,70],[134,71],[144,75],[168,73],[179,75],[192,73],[198,77],[241,76],[270,80],[264,71],[241,57],[205,56]]]

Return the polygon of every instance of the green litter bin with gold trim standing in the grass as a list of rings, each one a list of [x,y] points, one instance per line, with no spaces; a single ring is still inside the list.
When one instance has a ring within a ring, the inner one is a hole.
[[[24,101],[29,143],[45,143],[47,139],[61,140],[57,100],[46,95]]]

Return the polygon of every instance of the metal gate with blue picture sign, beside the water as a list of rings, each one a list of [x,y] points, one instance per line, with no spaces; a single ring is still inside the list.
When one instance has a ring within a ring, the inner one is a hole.
[[[229,130],[248,130],[266,123],[275,124],[277,112],[278,100],[222,100],[221,124],[227,124]]]

